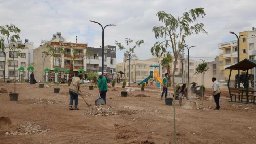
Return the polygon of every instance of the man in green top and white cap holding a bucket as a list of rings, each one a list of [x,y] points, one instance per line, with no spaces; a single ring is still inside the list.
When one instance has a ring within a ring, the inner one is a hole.
[[[102,98],[106,102],[106,93],[107,93],[107,80],[102,75],[101,72],[98,72],[99,80],[98,80],[98,87],[99,87],[99,98]]]

